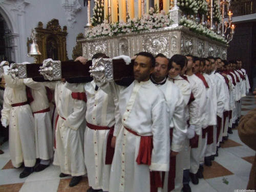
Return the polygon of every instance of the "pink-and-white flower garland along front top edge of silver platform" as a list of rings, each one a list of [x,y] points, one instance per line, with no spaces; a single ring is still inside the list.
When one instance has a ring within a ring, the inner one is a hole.
[[[168,27],[171,23],[172,20],[169,19],[169,13],[165,14],[164,10],[158,12],[158,9],[150,8],[149,13],[144,14],[141,19],[128,19],[126,23],[120,20],[114,24],[109,24],[107,20],[104,20],[102,24],[98,24],[88,30],[85,35],[87,38],[113,36],[120,33]]]

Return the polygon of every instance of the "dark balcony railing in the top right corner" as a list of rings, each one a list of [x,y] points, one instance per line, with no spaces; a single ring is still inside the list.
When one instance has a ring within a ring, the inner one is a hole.
[[[230,3],[233,16],[256,13],[256,0],[237,0]]]

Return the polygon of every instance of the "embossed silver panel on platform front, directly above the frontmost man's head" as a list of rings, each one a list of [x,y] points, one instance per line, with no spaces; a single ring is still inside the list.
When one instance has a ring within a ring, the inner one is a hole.
[[[168,34],[145,35],[142,40],[143,50],[147,50],[155,55],[158,53],[168,55],[168,41]]]

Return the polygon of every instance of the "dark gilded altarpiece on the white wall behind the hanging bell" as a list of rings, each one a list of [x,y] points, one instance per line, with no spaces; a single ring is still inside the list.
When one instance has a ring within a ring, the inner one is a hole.
[[[38,22],[38,28],[36,31],[36,43],[38,45],[41,55],[38,55],[37,62],[42,63],[43,60],[52,58],[53,60],[67,61],[67,26],[59,26],[58,19],[52,19],[47,23],[46,29],[43,29],[42,22]],[[32,44],[32,39],[28,38],[27,47],[28,53],[30,49],[30,44]]]

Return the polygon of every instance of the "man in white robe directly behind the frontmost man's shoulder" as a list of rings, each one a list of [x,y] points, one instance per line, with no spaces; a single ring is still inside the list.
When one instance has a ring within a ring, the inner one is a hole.
[[[179,88],[167,79],[170,69],[168,59],[163,54],[156,56],[155,72],[151,76],[152,82],[164,93],[169,106],[170,115],[170,170],[165,173],[163,191],[180,191],[182,188],[183,164],[176,156],[184,148],[186,139],[185,101]]]

